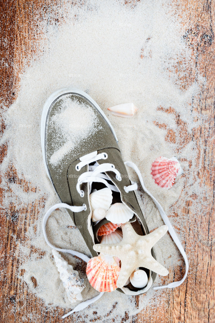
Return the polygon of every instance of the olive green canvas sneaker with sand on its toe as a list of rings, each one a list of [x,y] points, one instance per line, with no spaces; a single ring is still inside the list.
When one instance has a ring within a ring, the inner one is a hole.
[[[129,222],[134,230],[140,235],[149,233],[133,191],[137,184],[129,180],[116,133],[87,93],[64,88],[47,99],[42,112],[41,144],[47,175],[93,257],[98,255],[93,248],[100,242],[98,231],[110,222],[106,218],[92,222],[90,194],[96,190],[108,187],[112,203],[123,203],[132,212]],[[153,248],[151,255],[155,258]],[[157,274],[144,270],[148,275],[146,287],[139,289],[128,283],[118,290],[128,295],[146,292]]]

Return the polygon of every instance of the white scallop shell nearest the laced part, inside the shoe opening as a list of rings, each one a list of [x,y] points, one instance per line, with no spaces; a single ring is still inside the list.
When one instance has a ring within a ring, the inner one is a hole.
[[[112,191],[108,187],[93,192],[89,196],[92,212],[98,207],[107,211],[112,203]]]

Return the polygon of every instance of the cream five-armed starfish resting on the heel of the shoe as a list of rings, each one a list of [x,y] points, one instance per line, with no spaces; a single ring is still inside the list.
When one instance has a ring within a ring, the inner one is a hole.
[[[121,224],[123,239],[118,244],[96,244],[93,249],[104,255],[116,256],[121,260],[117,287],[123,287],[137,267],[145,267],[159,275],[166,276],[168,270],[151,255],[151,248],[167,232],[168,226],[162,225],[146,235],[137,234],[130,222]]]

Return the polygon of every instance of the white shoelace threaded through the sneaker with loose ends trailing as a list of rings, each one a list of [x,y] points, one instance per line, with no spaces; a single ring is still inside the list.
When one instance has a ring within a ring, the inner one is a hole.
[[[91,188],[92,182],[101,182],[101,183],[105,184],[107,187],[109,187],[112,191],[119,192],[118,188],[115,185],[110,185],[107,182],[107,180],[110,180],[109,177],[106,174],[102,174],[102,173],[103,172],[109,172],[109,171],[114,172],[116,174],[116,179],[118,181],[121,181],[122,178],[121,178],[120,172],[115,169],[115,166],[113,164],[103,163],[101,165],[98,165],[98,163],[97,163],[97,161],[99,159],[107,159],[107,158],[108,158],[107,153],[100,153],[100,154],[97,154],[96,156],[94,156],[93,158],[90,158],[90,159],[84,160],[84,161],[80,161],[76,165],[76,170],[79,171],[82,167],[86,166],[87,164],[90,164],[92,162],[96,162],[96,164],[94,164],[93,166],[89,166],[89,171],[88,172],[82,173],[78,178],[76,188],[77,188],[77,191],[78,191],[78,193],[80,194],[81,197],[84,196],[84,192],[80,189],[80,185],[82,183],[86,183],[86,182],[89,182],[90,188]],[[152,198],[153,202],[157,206],[164,223],[168,226],[169,234],[171,235],[173,241],[177,245],[181,255],[184,258],[184,262],[185,262],[186,270],[185,270],[185,274],[184,274],[184,276],[183,276],[183,278],[181,280],[169,283],[168,285],[153,287],[153,289],[166,288],[166,287],[167,288],[178,287],[179,285],[181,285],[184,282],[184,280],[186,279],[187,274],[188,274],[189,265],[188,265],[187,255],[186,255],[186,253],[185,253],[185,251],[184,251],[184,249],[183,249],[183,247],[182,247],[182,245],[181,245],[181,243],[179,241],[179,238],[177,237],[171,223],[169,222],[169,219],[168,219],[166,213],[164,212],[162,206],[154,198],[154,196],[146,189],[146,187],[144,185],[144,182],[143,182],[142,175],[141,175],[138,167],[133,162],[130,162],[130,161],[126,161],[125,165],[127,165],[128,167],[133,168],[133,170],[137,173],[137,175],[139,177],[139,181],[140,181],[140,183],[142,185],[142,188],[143,188],[144,192],[146,192]],[[124,186],[124,190],[127,193],[130,192],[130,191],[136,190],[137,188],[138,188],[138,186],[137,186],[137,183],[135,183],[135,182],[132,182],[132,184],[129,185],[129,186]],[[44,238],[46,240],[46,243],[52,249],[55,249],[55,250],[61,251],[61,252],[67,252],[67,253],[69,253],[71,255],[75,255],[75,256],[83,259],[84,261],[88,262],[90,258],[87,257],[87,255],[84,255],[84,254],[82,254],[82,253],[80,253],[78,251],[75,251],[75,250],[57,248],[57,247],[55,247],[54,245],[52,245],[48,241],[47,234],[46,234],[46,222],[47,222],[47,219],[48,219],[49,215],[54,210],[56,210],[57,208],[60,208],[60,207],[67,208],[67,209],[71,210],[72,212],[81,212],[81,211],[86,211],[87,210],[86,204],[83,204],[82,206],[70,206],[70,205],[68,205],[66,203],[58,203],[58,204],[53,205],[46,212],[46,214],[45,214],[45,216],[43,218],[43,223],[42,223],[43,234],[44,234]],[[89,300],[87,300],[85,302],[82,302],[82,303],[78,304],[72,311],[70,311],[69,313],[62,316],[62,318],[66,318],[68,315],[84,309],[88,305],[90,305],[90,304],[94,303],[95,301],[97,301],[97,299],[99,299],[103,294],[104,294],[104,292],[100,292],[100,294],[97,295],[96,297],[93,297],[92,299],[89,299]]]

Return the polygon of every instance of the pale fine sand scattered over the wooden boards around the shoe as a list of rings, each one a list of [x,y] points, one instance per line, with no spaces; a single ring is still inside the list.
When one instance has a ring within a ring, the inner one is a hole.
[[[75,15],[76,18],[73,18]],[[1,185],[10,190],[5,193],[5,212],[11,201],[16,203],[19,210],[25,203],[30,205],[43,196],[46,197],[45,208],[39,210],[38,220],[28,228],[29,239],[22,244],[17,243],[19,270],[25,269],[22,279],[28,285],[29,292],[35,293],[44,304],[49,305],[51,311],[56,306],[67,309],[72,307],[65,297],[51,256],[51,248],[46,245],[41,231],[43,215],[51,205],[58,202],[46,176],[40,146],[42,108],[53,91],[74,86],[87,91],[97,101],[117,133],[123,159],[138,165],[146,187],[171,217],[170,220],[177,227],[183,245],[184,235],[180,228],[183,229],[190,220],[181,217],[181,214],[174,217],[172,205],[181,207],[181,204],[185,203],[185,191],[189,191],[190,196],[196,193],[201,198],[195,160],[202,156],[197,155],[196,143],[190,141],[185,147],[179,147],[179,129],[174,115],[157,110],[160,106],[174,108],[186,122],[188,133],[199,124],[194,122],[191,103],[198,91],[200,80],[186,91],[182,91],[176,85],[176,75],[170,72],[174,70],[173,66],[178,61],[184,62],[185,69],[188,66],[190,68],[192,63],[191,52],[183,40],[185,27],[182,28],[177,16],[172,14],[169,3],[142,1],[131,8],[116,1],[86,1],[86,4],[80,7],[70,8],[68,4],[67,14],[61,12],[60,16],[63,17],[62,24],[58,26],[44,21],[44,42],[40,43],[44,53],[35,57],[30,67],[21,75],[18,98],[4,113],[7,127],[1,140],[1,143],[7,141],[9,144],[7,156],[1,166],[3,174],[12,162],[19,178],[25,178],[36,186],[35,193],[26,194],[22,186],[8,182],[7,177],[3,176]],[[139,108],[133,118],[116,117],[107,110],[110,106],[126,102],[134,102]],[[195,120],[200,120],[200,116],[197,115]],[[166,130],[159,129],[154,121],[166,123],[176,132],[175,144],[165,141]],[[160,189],[150,175],[152,161],[161,155],[168,158],[177,155],[184,170],[184,174],[176,179],[170,190]],[[133,172],[129,173],[131,179],[136,180]],[[137,194],[149,230],[162,225],[159,213],[150,198],[145,196],[141,189]],[[191,208],[198,207],[199,200],[192,202]],[[19,217],[21,222],[25,221],[25,214],[20,213]],[[65,211],[53,213],[48,221],[50,240],[57,246],[74,248],[89,255],[79,231],[69,227],[70,225],[73,225],[72,221]],[[37,252],[31,253],[31,245],[35,246],[36,250],[46,251],[45,255],[41,258]],[[192,253],[190,250],[186,251],[190,259]],[[182,264],[168,234],[157,243],[155,252],[157,260],[164,264],[170,273],[173,273],[175,266]],[[77,264],[77,269],[79,262],[68,255],[64,256],[71,264]],[[32,284],[31,276],[36,278],[36,288]],[[97,292],[87,283],[84,272],[81,272],[80,276],[85,278],[87,286],[83,291],[83,299],[96,295]],[[168,277],[165,282],[169,282]],[[155,285],[159,284],[158,276]],[[150,289],[146,295],[139,297],[138,307],[135,297],[128,297],[117,291],[106,293],[90,308],[77,313],[75,318],[77,322],[83,322],[82,316],[87,315],[84,320],[88,322],[91,318],[101,315],[106,322],[112,322],[112,318],[115,318],[115,322],[120,322],[125,311],[130,316],[150,303],[162,306],[168,293],[169,291]],[[110,310],[111,315],[105,317]],[[97,311],[97,315],[93,314],[93,311]],[[26,313],[23,321],[28,317],[38,319],[34,315]]]

